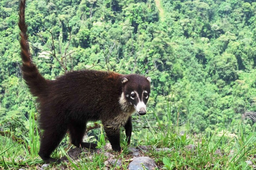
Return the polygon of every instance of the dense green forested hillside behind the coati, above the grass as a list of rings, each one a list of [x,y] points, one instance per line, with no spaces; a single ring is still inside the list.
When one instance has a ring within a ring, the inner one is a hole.
[[[18,4],[18,0],[0,2],[0,129],[24,134],[24,122],[36,104],[21,78]],[[182,126],[189,117],[193,133],[223,127],[236,133],[241,122],[237,120],[256,110],[253,1],[27,0],[26,4],[33,61],[47,79],[80,69],[151,76],[152,110],[164,123],[166,105],[171,104],[173,124]],[[251,119],[245,123],[246,131],[255,129]]]

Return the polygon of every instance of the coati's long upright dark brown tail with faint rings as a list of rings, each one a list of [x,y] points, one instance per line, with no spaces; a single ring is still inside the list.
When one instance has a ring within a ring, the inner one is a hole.
[[[25,22],[25,2],[26,0],[21,0],[20,11],[19,11],[19,22],[18,26],[21,30],[20,32],[20,45],[21,45],[21,58],[22,58],[22,74],[23,79],[27,83],[31,93],[34,96],[41,96],[47,87],[48,80],[39,73],[37,66],[32,63],[31,53],[28,44],[27,35],[27,25]]]

